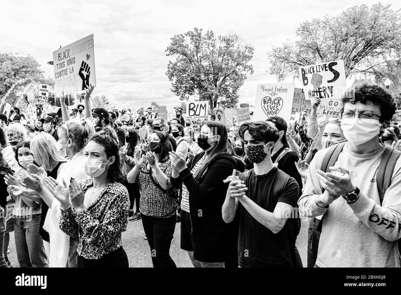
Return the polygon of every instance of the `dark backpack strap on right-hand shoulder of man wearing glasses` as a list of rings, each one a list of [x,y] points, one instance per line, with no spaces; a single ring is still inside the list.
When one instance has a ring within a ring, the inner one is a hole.
[[[380,205],[383,203],[384,194],[391,184],[391,178],[395,168],[395,163],[400,157],[401,152],[386,146],[383,156],[377,168],[377,189],[379,191]]]

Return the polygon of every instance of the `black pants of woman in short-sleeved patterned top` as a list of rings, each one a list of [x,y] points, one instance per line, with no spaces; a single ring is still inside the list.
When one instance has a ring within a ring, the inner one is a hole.
[[[158,218],[141,214],[142,224],[150,246],[153,267],[176,267],[170,256],[177,215]]]

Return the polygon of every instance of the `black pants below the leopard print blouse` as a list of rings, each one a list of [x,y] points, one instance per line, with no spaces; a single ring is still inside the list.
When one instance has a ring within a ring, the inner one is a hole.
[[[127,253],[123,247],[103,255],[99,259],[86,259],[78,255],[78,267],[128,267]]]

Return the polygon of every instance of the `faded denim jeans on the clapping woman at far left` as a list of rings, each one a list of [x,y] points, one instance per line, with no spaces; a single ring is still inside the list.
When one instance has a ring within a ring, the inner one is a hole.
[[[20,267],[48,267],[43,240],[39,234],[41,214],[14,218],[14,236]]]

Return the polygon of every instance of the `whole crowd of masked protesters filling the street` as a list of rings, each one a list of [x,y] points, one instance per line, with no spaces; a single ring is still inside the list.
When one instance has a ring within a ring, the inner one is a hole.
[[[0,267],[13,231],[20,267],[128,267],[138,220],[153,267],[176,267],[178,222],[194,267],[400,267],[401,138],[382,87],[359,85],[322,126],[313,98],[293,124],[231,128],[92,108],[92,91],[38,120],[0,114]]]

